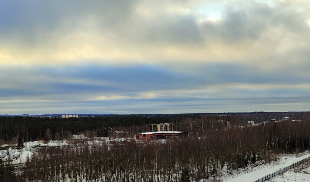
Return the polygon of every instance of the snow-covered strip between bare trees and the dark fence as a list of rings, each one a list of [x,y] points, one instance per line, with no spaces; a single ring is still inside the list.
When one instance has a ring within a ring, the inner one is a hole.
[[[308,154],[307,154],[308,152]],[[287,167],[293,163],[296,163],[302,159],[310,156],[309,151],[299,154],[283,154],[279,161],[265,163],[257,167],[252,167],[248,170],[240,169],[238,172],[234,172],[232,176],[224,175],[222,180],[225,182],[241,182],[241,181],[255,181],[268,174],[271,174],[279,169]],[[309,175],[310,176],[310,175]]]

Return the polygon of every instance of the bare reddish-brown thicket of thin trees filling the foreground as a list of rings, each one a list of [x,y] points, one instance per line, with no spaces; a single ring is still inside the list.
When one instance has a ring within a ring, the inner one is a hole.
[[[185,121],[185,120],[184,120]],[[196,122],[201,123],[203,117]],[[209,125],[205,123],[206,125]],[[185,123],[184,123],[185,125]],[[33,154],[20,181],[215,180],[275,154],[309,149],[310,121],[270,122],[244,128],[216,125],[200,137],[152,142],[80,143]]]

